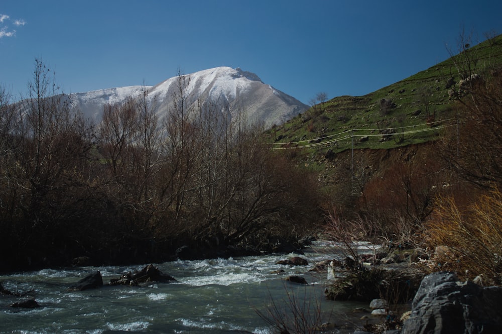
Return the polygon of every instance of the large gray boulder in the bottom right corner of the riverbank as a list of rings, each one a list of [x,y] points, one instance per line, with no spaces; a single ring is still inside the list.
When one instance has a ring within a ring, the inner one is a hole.
[[[402,334],[502,333],[502,287],[459,282],[451,272],[427,275]]]

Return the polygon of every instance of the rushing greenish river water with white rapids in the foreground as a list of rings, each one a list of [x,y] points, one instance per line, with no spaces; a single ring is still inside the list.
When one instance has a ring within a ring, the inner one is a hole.
[[[290,256],[297,256],[290,254]],[[360,306],[323,298],[326,273],[310,273],[321,260],[340,258],[338,247],[318,242],[305,251],[311,265],[281,266],[285,255],[176,261],[156,264],[178,283],[147,286],[104,286],[69,292],[82,277],[99,270],[106,284],[128,271],[144,266],[106,266],[44,269],[0,276],[11,292],[29,296],[0,296],[0,333],[225,333],[249,331],[273,333],[257,314],[271,305],[288,308],[291,300],[301,303],[305,313],[323,310],[323,320]],[[273,273],[283,269],[281,274]],[[308,285],[284,280],[289,275],[305,277]],[[41,307],[13,308],[10,305],[35,297]],[[286,311],[288,313],[288,311]],[[331,319],[330,319],[331,317]]]

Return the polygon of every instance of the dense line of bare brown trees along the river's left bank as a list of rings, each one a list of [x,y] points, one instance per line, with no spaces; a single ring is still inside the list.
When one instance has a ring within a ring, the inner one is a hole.
[[[311,175],[267,150],[245,109],[197,99],[177,78],[166,115],[145,89],[105,105],[98,124],[39,59],[27,98],[0,89],[0,268],[272,250],[313,229]]]

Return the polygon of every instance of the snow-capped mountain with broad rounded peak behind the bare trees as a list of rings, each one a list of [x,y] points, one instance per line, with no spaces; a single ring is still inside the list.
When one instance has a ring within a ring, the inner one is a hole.
[[[249,121],[263,122],[266,127],[283,124],[308,108],[294,97],[265,84],[258,75],[240,68],[216,67],[186,74],[185,82],[189,102],[195,103],[201,98],[227,103],[232,110],[244,109]],[[145,89],[150,99],[156,99],[157,114],[165,115],[172,106],[173,96],[179,93],[178,77],[152,87],[131,86],[74,93],[71,100],[85,117],[99,122],[104,104],[138,96]]]

